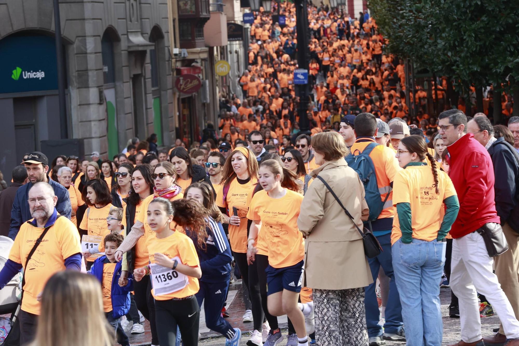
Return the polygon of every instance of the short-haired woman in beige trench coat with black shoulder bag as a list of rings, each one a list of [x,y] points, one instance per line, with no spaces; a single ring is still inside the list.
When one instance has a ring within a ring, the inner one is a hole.
[[[321,166],[310,176],[324,178],[362,229],[369,209],[364,186],[344,159],[349,153],[344,139],[323,132],[311,145]],[[367,345],[364,287],[373,278],[362,236],[320,179],[308,188],[297,225],[306,238],[303,286],[313,290],[319,345]]]

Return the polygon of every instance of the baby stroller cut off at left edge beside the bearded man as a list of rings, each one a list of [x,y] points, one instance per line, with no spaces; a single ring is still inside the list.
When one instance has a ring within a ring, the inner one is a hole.
[[[7,262],[12,244],[11,238],[0,236],[0,270]],[[0,289],[0,315],[11,315],[0,317],[0,345],[2,346],[20,344],[20,327],[16,316],[20,310],[21,282],[22,274],[18,273],[3,289]]]

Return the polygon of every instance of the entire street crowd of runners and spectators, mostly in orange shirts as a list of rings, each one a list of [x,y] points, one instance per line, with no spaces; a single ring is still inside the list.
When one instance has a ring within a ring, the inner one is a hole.
[[[449,317],[460,318],[456,345],[519,345],[511,97],[501,97],[506,125],[488,118],[493,102],[474,117],[461,101],[447,109],[445,86],[436,100],[445,110],[428,115],[420,88],[405,104],[403,61],[384,54],[367,11],[352,18],[309,6],[310,131],[299,134],[294,5],[281,3],[280,14],[282,28],[266,12],[255,17],[242,100],[223,97],[220,123],[200,141],[159,149],[153,134],[112,160],[20,158],[0,193],[0,234],[14,241],[0,287],[24,269],[22,344],[46,344],[49,321],[73,318],[74,309],[50,308],[62,287],[63,301],[93,297],[80,312],[111,325],[81,331],[88,344],[111,345],[115,335],[129,345],[127,334],[148,320],[152,345],[197,345],[203,304],[207,327],[239,345],[225,309],[236,276],[249,346],[281,342],[282,315],[288,346],[441,345],[441,286],[452,288]],[[494,311],[501,325],[483,339],[480,317]]]

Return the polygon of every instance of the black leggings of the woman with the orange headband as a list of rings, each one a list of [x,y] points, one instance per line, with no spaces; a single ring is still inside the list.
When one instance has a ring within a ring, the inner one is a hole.
[[[261,296],[260,296],[260,284],[253,281],[253,285],[250,283],[250,275],[249,270],[253,272],[250,273],[251,276],[255,276],[257,278],[257,270],[255,265],[249,266],[247,264],[247,254],[242,254],[240,252],[234,252],[234,260],[236,261],[236,265],[238,265],[238,269],[241,273],[242,282],[249,289],[249,298],[251,299],[252,304],[252,320],[254,323],[254,330],[263,331],[263,320],[265,318],[265,314],[263,313],[263,308],[261,304]],[[252,267],[252,268],[251,268]]]

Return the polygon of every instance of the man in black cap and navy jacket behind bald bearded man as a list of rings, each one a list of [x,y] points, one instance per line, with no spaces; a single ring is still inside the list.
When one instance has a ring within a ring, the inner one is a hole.
[[[20,225],[32,219],[31,210],[29,209],[29,203],[27,201],[29,198],[29,190],[31,190],[33,185],[37,182],[44,181],[51,185],[54,194],[58,197],[56,210],[58,210],[60,215],[70,219],[72,212],[69,191],[59,182],[51,180],[47,175],[49,170],[49,159],[47,156],[39,151],[35,151],[30,153],[27,159],[21,164],[27,168],[29,182],[18,189],[15,202],[12,204],[9,238],[13,240],[20,230]]]

